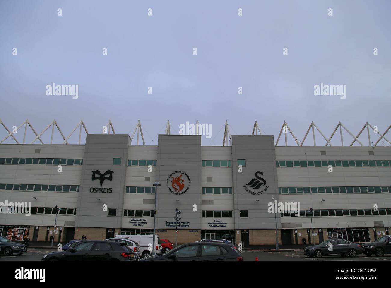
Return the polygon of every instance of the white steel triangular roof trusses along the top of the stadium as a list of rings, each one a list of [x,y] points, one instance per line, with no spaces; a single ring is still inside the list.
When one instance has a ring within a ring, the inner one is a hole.
[[[4,127],[4,129],[7,131],[7,136],[5,136],[4,139],[2,139],[0,141],[0,144],[2,144],[5,140],[9,139],[10,137],[12,137],[14,139],[14,141],[17,143],[17,144],[20,144],[20,142],[18,141],[18,139],[16,139],[16,135],[13,133],[13,131],[11,131],[10,129],[8,129],[8,127],[5,125],[5,123],[0,120],[0,124]],[[50,126],[52,126],[52,131],[51,131],[51,137],[50,137],[50,144],[53,143],[53,134],[54,134],[54,127],[57,128],[57,130],[60,132],[61,134],[61,137],[63,138],[62,140],[62,144],[69,144],[68,143],[68,140],[70,139],[70,137],[72,136],[72,134],[74,134],[74,132],[77,130],[77,128],[79,128],[79,141],[78,143],[80,144],[81,143],[81,132],[82,130],[84,129],[84,131],[86,132],[86,134],[89,134],[88,133],[88,130],[86,128],[86,125],[84,124],[83,120],[80,120],[79,123],[77,123],[76,127],[70,132],[70,134],[68,135],[68,137],[65,138],[63,132],[61,131],[59,125],[57,124],[56,120],[53,120],[49,123],[49,125],[47,125],[47,127],[45,127],[45,129],[43,129],[43,131],[41,133],[37,133],[36,130],[32,127],[31,123],[29,122],[28,119],[26,119],[21,125],[19,125],[18,127],[15,127],[13,126],[13,130],[16,128],[16,132],[22,128],[24,126],[24,135],[23,135],[23,142],[22,144],[25,144],[25,141],[26,141],[26,133],[27,133],[27,127],[29,126],[30,129],[32,130],[32,132],[34,132],[35,134],[35,138],[30,142],[30,144],[34,144],[37,140],[39,140],[41,142],[41,144],[44,144],[43,143],[43,140],[41,139],[41,136],[42,134],[48,130],[50,128]],[[195,131],[195,134],[199,134],[199,121],[197,120],[196,121],[196,131]],[[113,123],[111,122],[111,120],[108,121],[107,125],[106,125],[106,133],[107,134],[110,134],[110,132],[112,131],[113,134],[115,134],[115,130],[114,130],[114,127],[113,127]],[[353,138],[353,141],[352,143],[350,143],[350,147],[354,145],[355,142],[357,142],[359,145],[361,146],[366,146],[362,143],[362,141],[359,140],[359,137],[361,136],[362,132],[364,132],[364,130],[367,130],[367,134],[368,134],[368,146],[369,147],[375,147],[376,145],[378,145],[378,143],[380,141],[382,141],[383,143],[387,142],[391,145],[391,141],[389,139],[386,138],[386,135],[387,133],[389,132],[389,130],[391,130],[391,125],[386,129],[386,131],[384,132],[384,134],[382,134],[381,132],[378,131],[377,127],[376,126],[372,126],[371,124],[369,124],[368,122],[365,123],[365,125],[362,127],[362,129],[360,130],[360,132],[357,134],[357,136],[355,136],[352,132],[350,132],[349,129],[347,129],[343,123],[341,123],[341,121],[338,122],[337,126],[335,127],[334,131],[332,132],[330,138],[326,138],[325,135],[323,134],[323,132],[316,126],[316,124],[314,123],[314,121],[311,121],[310,123],[310,126],[308,127],[307,129],[307,132],[305,133],[305,136],[303,138],[303,141],[299,141],[298,138],[296,138],[296,136],[294,135],[294,133],[292,132],[291,128],[289,127],[289,125],[287,124],[286,121],[283,122],[282,124],[282,127],[280,129],[280,133],[278,134],[278,138],[277,138],[277,141],[275,143],[276,146],[278,146],[278,142],[280,141],[280,138],[282,136],[282,133],[284,133],[284,138],[285,138],[285,146],[288,146],[288,141],[287,141],[287,134],[290,133],[292,138],[294,139],[294,141],[296,142],[296,144],[301,147],[303,146],[304,144],[304,141],[305,139],[307,139],[307,136],[308,134],[310,133],[310,131],[312,130],[312,138],[313,138],[313,145],[316,146],[316,139],[315,139],[315,129],[321,134],[321,136],[325,139],[326,143],[324,146],[333,146],[332,143],[331,143],[331,140],[332,138],[334,137],[335,133],[337,132],[337,130],[339,129],[339,132],[340,132],[340,135],[341,135],[341,146],[344,146],[344,139],[343,139],[343,133],[342,133],[342,130],[344,129],[346,132],[348,132],[348,134],[350,134],[350,136],[352,136]],[[143,144],[142,145],[145,145],[145,140],[144,140],[144,136],[143,136],[143,130],[142,130],[142,127],[141,127],[141,123],[140,123],[140,120],[137,121],[137,124],[136,124],[136,127],[133,131],[133,134],[131,135],[131,139],[133,140],[133,137],[135,136],[135,133],[137,131],[137,142],[136,142],[136,145],[138,145],[139,143],[139,135],[141,135],[141,139],[142,139],[142,142]],[[258,132],[259,132],[259,135],[262,135],[261,133],[261,130],[260,130],[260,127],[258,125],[258,122],[255,121],[254,123],[254,126],[253,126],[253,132],[252,132],[252,135],[258,135]],[[103,133],[103,131],[102,131]],[[379,137],[379,139],[377,139],[377,141],[375,143],[371,142],[371,134],[374,134],[374,135],[377,135]],[[166,135],[170,135],[171,132],[170,132],[170,121],[167,120],[167,124],[166,124],[166,129],[165,129],[165,134]],[[228,120],[225,122],[225,128],[224,128],[224,138],[223,138],[223,143],[222,145],[225,146],[225,145],[229,145],[229,140],[231,138],[231,132],[230,132],[230,129],[229,129],[229,125],[228,125]]]

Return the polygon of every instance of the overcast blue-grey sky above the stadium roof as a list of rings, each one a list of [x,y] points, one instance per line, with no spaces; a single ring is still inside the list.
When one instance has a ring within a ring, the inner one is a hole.
[[[55,119],[65,136],[81,119],[89,133],[111,120],[117,134],[131,135],[140,119],[147,145],[157,145],[167,120],[171,134],[187,121],[212,125],[202,145],[222,145],[226,120],[234,135],[251,134],[257,120],[274,141],[284,120],[299,141],[311,121],[327,138],[339,121],[354,135],[366,121],[384,133],[390,14],[387,0],[2,0],[0,119],[9,129],[28,119],[38,133]],[[53,82],[78,85],[78,98],[47,95]],[[346,85],[346,98],[314,95],[321,83]],[[0,141],[7,134],[0,126]],[[26,143],[34,138],[28,130]],[[54,143],[61,139],[55,130]],[[316,139],[325,145],[319,132]],[[368,145],[366,134],[359,139]],[[344,144],[352,140],[344,131]],[[341,145],[339,132],[332,144]],[[290,136],[288,145],[296,145]]]

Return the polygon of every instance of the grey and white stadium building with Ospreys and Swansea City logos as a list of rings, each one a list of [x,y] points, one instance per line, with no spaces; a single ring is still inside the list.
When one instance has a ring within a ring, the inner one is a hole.
[[[27,129],[30,123],[23,125]],[[59,129],[55,121],[51,125]],[[79,126],[79,144],[68,144]],[[162,239],[177,237],[179,243],[225,238],[246,246],[272,245],[276,226],[280,244],[363,243],[389,235],[391,147],[380,144],[389,145],[390,128],[378,132],[371,145],[375,134],[368,122],[357,136],[339,122],[330,138],[312,122],[300,143],[285,122],[277,141],[262,135],[256,122],[252,135],[231,135],[226,123],[223,145],[203,146],[198,131],[171,135],[168,122],[158,145],[138,145],[139,132],[144,144],[140,122],[137,145],[132,145],[136,129],[129,136],[115,134],[111,122],[107,134],[88,134],[82,121],[77,127],[68,138],[61,133],[63,144],[43,144],[43,132],[35,130],[31,144],[23,144],[24,138],[19,143],[5,127],[10,133],[5,139],[17,143],[0,142],[2,236],[106,239],[153,233],[154,221]],[[85,144],[80,144],[82,127]],[[311,128],[314,145],[303,146]],[[314,128],[326,145],[316,146]],[[331,145],[338,128],[341,146]],[[370,146],[359,139],[365,128]],[[342,129],[353,138],[350,146],[343,146]],[[287,145],[291,136],[296,146]],[[280,137],[286,146],[277,145]],[[156,181],[161,186],[154,187]],[[31,208],[14,209],[22,202]],[[279,203],[294,204],[298,211],[270,213]]]

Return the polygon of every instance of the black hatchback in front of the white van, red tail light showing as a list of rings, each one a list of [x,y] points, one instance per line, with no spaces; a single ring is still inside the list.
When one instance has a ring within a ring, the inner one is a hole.
[[[66,251],[44,255],[42,261],[135,261],[125,243],[84,241]]]

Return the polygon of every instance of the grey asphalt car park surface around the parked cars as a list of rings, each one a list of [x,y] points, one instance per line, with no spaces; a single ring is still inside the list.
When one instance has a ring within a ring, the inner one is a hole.
[[[4,256],[0,255],[0,261],[41,261],[43,255],[56,250],[45,249],[45,248],[30,248],[26,254],[23,255],[11,255]],[[363,254],[357,257],[341,257],[341,256],[327,256],[320,259],[309,258],[303,255],[303,250],[294,251],[264,251],[264,250],[244,250],[243,253],[244,261],[255,261],[258,257],[258,261],[391,261],[391,254],[385,255],[384,257],[367,257]]]

